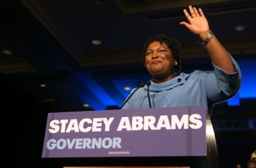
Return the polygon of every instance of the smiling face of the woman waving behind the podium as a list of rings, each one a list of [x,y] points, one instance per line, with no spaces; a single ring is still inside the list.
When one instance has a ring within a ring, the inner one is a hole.
[[[146,50],[145,65],[153,79],[170,79],[175,76],[172,50],[163,42],[152,42]]]

